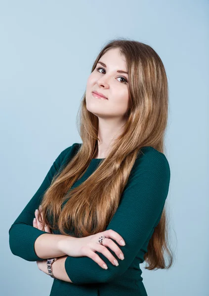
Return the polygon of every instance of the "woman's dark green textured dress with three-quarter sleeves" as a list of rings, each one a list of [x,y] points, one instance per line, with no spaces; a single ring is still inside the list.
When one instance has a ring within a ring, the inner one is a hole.
[[[78,151],[74,143],[64,149],[52,164],[42,185],[9,228],[9,246],[12,254],[28,261],[45,260],[34,250],[36,239],[45,231],[33,227],[45,190],[52,178]],[[68,256],[66,272],[73,283],[53,280],[50,296],[147,296],[139,264],[144,261],[149,240],[161,219],[167,198],[170,168],[165,154],[152,147],[143,147],[131,170],[119,207],[106,230],[113,229],[125,240],[125,246],[114,241],[124,253],[124,260],[108,248],[118,260],[113,265],[103,254],[95,252],[108,266],[105,270],[88,257]],[[97,168],[102,158],[91,160],[83,177],[74,183],[80,185]],[[60,234],[56,232],[54,234]]]

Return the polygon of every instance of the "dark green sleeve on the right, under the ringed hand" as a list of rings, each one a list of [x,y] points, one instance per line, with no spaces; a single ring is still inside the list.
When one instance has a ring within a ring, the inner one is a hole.
[[[114,242],[124,253],[125,259],[118,259],[107,247],[119,261],[119,266],[114,266],[102,253],[96,251],[108,266],[105,270],[88,257],[68,256],[65,269],[74,284],[108,283],[125,273],[160,221],[169,182],[169,164],[163,153],[151,148],[136,159],[119,207],[106,228],[115,230],[124,238],[125,246]]]

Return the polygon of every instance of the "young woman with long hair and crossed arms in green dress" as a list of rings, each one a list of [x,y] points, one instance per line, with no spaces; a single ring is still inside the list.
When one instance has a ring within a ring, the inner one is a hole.
[[[159,55],[135,40],[111,40],[87,80],[83,143],[58,155],[9,229],[11,252],[54,278],[50,296],[146,296],[139,264],[172,265],[167,113]]]

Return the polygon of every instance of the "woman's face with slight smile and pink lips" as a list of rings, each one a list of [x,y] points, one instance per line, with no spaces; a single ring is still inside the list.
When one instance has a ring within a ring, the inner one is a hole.
[[[125,57],[120,55],[118,48],[108,50],[87,80],[85,98],[88,111],[101,118],[123,119],[128,109],[129,87],[128,74],[120,71],[127,72]],[[102,93],[107,100],[95,97],[94,91]]]

